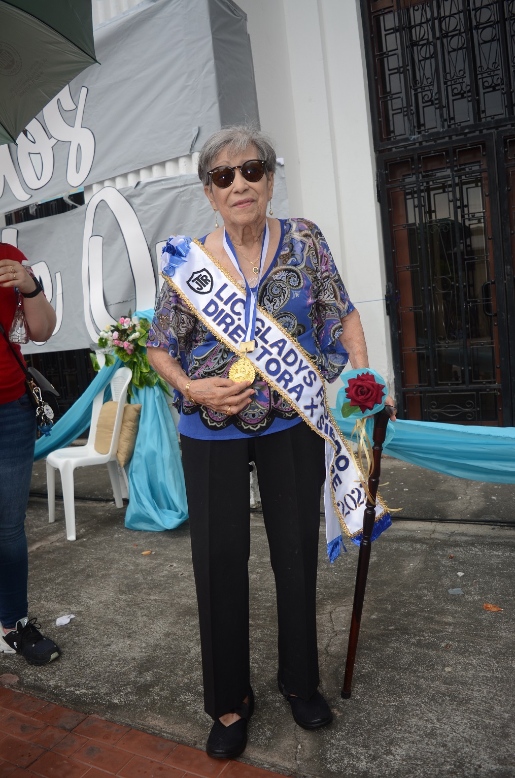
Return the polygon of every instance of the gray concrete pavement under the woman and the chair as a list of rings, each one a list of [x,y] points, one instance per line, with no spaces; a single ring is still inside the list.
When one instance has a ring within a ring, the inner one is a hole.
[[[513,487],[385,458],[381,489],[412,518],[510,522]],[[45,492],[37,463],[33,492]],[[106,468],[76,471],[77,541],[62,503],[30,499],[30,612],[63,650],[33,668],[0,657],[16,689],[204,748],[200,645],[188,524],[124,528]],[[82,498],[96,498],[96,501]],[[401,515],[398,514],[398,515]],[[515,523],[513,524],[515,527]],[[297,727],[277,691],[276,612],[266,534],[252,514],[251,661],[256,713],[243,760],[296,776],[515,776],[513,527],[396,520],[374,542],[353,696],[340,697],[357,547],[335,565],[320,536],[318,644],[331,727]],[[151,551],[149,555],[142,555]],[[458,575],[463,573],[463,575]],[[461,588],[463,594],[449,594]],[[484,603],[503,608],[486,612]],[[56,627],[57,616],[75,619]]]

